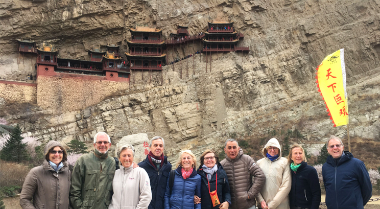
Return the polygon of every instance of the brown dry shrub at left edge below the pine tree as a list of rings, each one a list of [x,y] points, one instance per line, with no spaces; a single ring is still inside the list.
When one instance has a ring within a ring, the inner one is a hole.
[[[23,181],[29,172],[27,165],[0,160],[0,182],[2,187],[13,185],[22,187]]]

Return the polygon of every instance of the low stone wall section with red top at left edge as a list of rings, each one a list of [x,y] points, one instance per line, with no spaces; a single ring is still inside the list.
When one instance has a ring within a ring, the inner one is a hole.
[[[35,103],[37,100],[37,84],[0,80],[0,98],[16,103]]]

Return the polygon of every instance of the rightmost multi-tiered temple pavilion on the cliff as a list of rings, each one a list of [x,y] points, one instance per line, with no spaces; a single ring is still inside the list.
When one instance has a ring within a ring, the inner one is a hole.
[[[208,22],[203,39],[203,52],[249,52],[248,47],[236,47],[244,38],[233,27],[233,22]]]

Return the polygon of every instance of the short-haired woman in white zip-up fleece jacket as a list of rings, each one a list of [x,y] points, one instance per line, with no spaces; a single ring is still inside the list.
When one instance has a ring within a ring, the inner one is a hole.
[[[124,145],[117,151],[121,167],[113,177],[113,196],[109,209],[146,209],[152,200],[148,173],[143,168],[132,167],[134,152],[132,145]]]

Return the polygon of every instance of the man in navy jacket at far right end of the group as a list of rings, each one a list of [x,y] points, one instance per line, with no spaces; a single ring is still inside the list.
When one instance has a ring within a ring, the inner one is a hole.
[[[363,209],[372,196],[372,184],[363,161],[343,151],[337,136],[327,141],[326,163],[322,167],[328,209]]]

